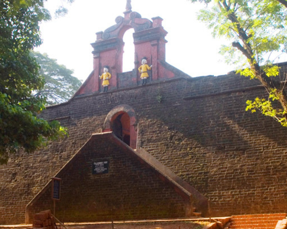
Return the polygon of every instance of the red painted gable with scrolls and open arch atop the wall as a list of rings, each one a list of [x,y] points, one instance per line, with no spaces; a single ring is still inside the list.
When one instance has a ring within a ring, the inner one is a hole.
[[[103,73],[103,67],[109,66],[112,78],[109,80],[110,89],[117,89],[119,86],[119,73],[123,71],[123,35],[128,29],[134,29],[133,38],[135,45],[135,63],[137,76],[130,79],[133,84],[140,82],[140,74],[137,68],[141,64],[141,59],[147,57],[148,65],[152,65],[150,76],[152,80],[163,80],[173,78],[174,72],[165,68],[161,62],[165,61],[164,37],[167,32],[162,27],[162,18],[154,17],[152,21],[141,18],[137,12],[124,12],[124,17],[116,18],[116,25],[98,32],[97,40],[92,44],[94,51],[94,71],[86,82],[79,88],[75,96],[92,94],[101,91],[101,80],[99,75]]]

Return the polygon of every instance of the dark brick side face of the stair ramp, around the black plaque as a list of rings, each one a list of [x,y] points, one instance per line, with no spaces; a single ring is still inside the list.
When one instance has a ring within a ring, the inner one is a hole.
[[[56,217],[65,222],[184,217],[185,201],[173,187],[108,140],[93,137],[57,175],[62,185]],[[109,172],[92,174],[92,163],[105,160]],[[53,209],[51,185],[29,212],[32,216],[44,209]]]

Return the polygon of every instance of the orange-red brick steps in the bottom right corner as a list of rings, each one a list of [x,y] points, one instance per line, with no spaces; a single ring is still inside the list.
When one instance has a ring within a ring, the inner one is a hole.
[[[286,213],[232,216],[231,223],[226,228],[274,229],[278,220],[284,218]]]

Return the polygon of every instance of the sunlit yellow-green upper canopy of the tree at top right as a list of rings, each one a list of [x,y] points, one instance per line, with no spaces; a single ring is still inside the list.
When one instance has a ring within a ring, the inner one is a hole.
[[[287,12],[278,1],[215,0],[212,3],[200,11],[198,19],[213,29],[214,36],[227,37],[242,46],[244,42],[250,44],[259,64],[266,61],[265,54],[286,49]],[[246,40],[242,40],[243,32]]]

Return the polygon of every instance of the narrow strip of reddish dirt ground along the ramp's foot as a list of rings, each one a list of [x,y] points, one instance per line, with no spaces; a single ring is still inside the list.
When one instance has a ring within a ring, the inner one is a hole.
[[[65,225],[68,229],[201,229],[209,222],[149,222],[126,224]],[[63,227],[61,227],[62,229]]]

